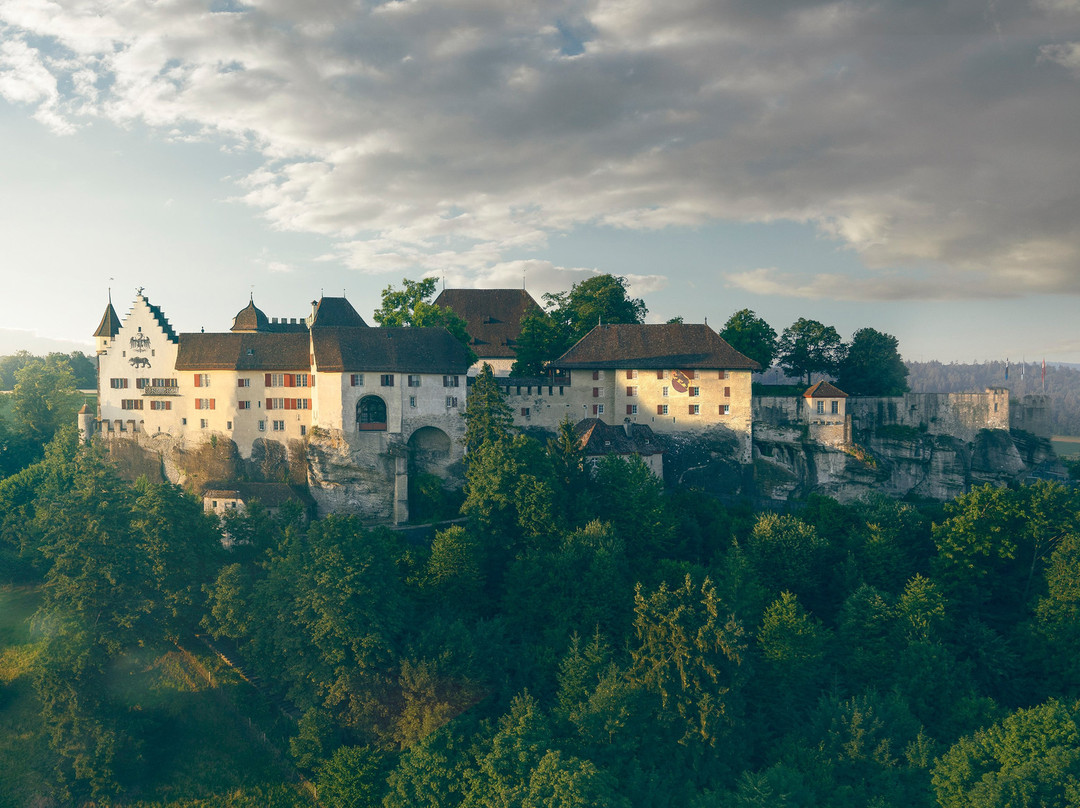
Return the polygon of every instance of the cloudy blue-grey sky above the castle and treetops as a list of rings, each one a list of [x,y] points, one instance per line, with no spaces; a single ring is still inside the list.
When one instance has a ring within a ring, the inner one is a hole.
[[[1080,362],[1080,0],[0,0],[0,353],[625,277]]]

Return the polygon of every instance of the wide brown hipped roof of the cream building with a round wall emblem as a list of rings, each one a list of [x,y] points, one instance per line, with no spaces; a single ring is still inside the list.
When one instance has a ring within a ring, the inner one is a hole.
[[[760,371],[707,325],[597,325],[554,363],[555,367],[637,369],[719,368]]]

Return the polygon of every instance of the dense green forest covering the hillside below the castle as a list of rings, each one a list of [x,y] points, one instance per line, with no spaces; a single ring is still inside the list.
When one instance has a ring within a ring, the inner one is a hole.
[[[221,526],[70,430],[0,482],[0,577],[41,597],[0,702],[32,683],[51,749],[15,785],[307,805],[284,773],[215,791],[192,696],[132,698],[205,631],[292,716],[283,760],[324,806],[1075,804],[1080,491],[754,513],[639,461],[590,475],[569,425],[512,434],[487,393],[463,521],[421,543],[258,508]]]

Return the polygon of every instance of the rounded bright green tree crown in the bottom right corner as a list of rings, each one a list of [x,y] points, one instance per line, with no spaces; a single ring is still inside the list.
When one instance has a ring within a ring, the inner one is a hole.
[[[933,768],[942,808],[1066,808],[1080,800],[1080,704],[1051,699],[957,741]]]

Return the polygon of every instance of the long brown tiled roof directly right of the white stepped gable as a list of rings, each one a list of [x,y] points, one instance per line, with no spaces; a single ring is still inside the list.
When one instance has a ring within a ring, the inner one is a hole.
[[[306,371],[307,333],[181,334],[177,371]]]

